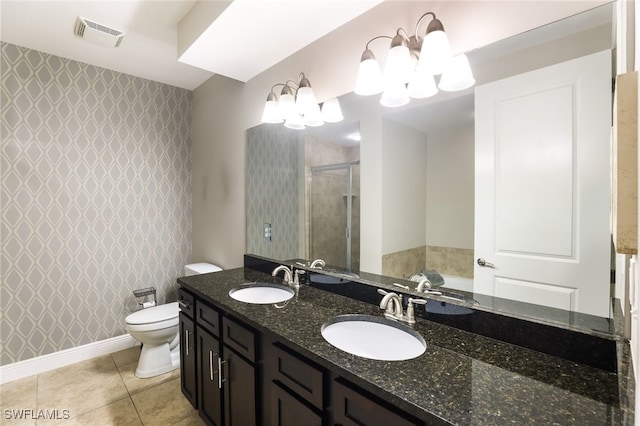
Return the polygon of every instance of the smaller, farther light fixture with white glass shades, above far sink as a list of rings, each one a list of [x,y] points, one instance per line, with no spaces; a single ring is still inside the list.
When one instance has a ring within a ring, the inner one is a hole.
[[[280,97],[276,88],[282,86]],[[263,123],[282,123],[289,129],[317,127],[326,123],[343,120],[342,110],[337,98],[331,98],[318,104],[309,79],[300,73],[300,82],[288,80],[271,87],[262,113]]]

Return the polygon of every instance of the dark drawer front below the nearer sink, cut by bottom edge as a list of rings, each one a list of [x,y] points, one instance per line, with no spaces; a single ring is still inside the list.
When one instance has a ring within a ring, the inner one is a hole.
[[[361,393],[351,385],[341,381],[333,382],[331,402],[333,405],[334,422],[343,426],[375,426],[394,425],[412,426],[422,425],[419,420],[411,419],[408,414],[382,405],[375,401],[375,396]]]

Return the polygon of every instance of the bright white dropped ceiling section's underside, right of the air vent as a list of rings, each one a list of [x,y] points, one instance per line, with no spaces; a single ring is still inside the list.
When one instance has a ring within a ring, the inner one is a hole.
[[[246,82],[381,2],[234,0],[180,61]]]

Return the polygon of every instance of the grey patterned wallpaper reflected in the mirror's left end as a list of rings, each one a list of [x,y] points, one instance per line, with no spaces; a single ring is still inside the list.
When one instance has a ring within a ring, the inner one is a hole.
[[[247,130],[247,253],[272,259],[301,257],[298,247],[302,132],[282,124]],[[273,236],[265,240],[264,224]]]

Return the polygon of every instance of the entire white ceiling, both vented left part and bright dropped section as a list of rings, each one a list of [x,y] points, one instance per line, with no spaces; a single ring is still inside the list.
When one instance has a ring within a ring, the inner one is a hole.
[[[178,61],[177,47],[178,23],[196,0],[1,0],[0,39],[193,90],[214,73],[247,81],[381,1],[235,0],[183,55],[197,66]],[[122,44],[74,35],[78,16],[123,31]]]

